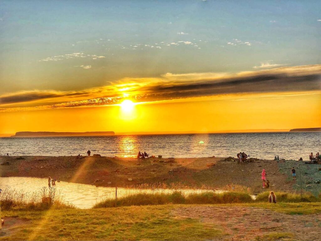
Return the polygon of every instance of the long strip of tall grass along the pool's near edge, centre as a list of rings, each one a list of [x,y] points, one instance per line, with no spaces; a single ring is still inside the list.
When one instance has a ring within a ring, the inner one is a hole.
[[[220,204],[253,202],[251,196],[242,192],[203,192],[184,196],[181,192],[173,193],[138,193],[117,199],[117,207],[163,205],[163,204]],[[115,199],[106,199],[94,208],[115,207]]]

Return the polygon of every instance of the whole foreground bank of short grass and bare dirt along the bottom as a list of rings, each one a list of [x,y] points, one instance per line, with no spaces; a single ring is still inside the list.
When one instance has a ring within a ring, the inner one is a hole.
[[[49,210],[4,210],[3,216],[5,220],[21,222],[10,228],[5,225],[3,231],[9,235],[0,236],[0,240],[315,240],[296,232],[309,233],[310,228],[321,232],[320,202],[171,204],[89,210],[53,206]],[[319,221],[310,223],[312,227],[298,227],[299,230],[289,223],[298,225],[309,219]],[[269,226],[274,228],[266,228]]]

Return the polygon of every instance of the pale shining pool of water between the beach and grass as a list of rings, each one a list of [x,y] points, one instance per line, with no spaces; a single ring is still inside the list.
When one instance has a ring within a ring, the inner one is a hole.
[[[0,188],[10,188],[22,191],[26,194],[41,191],[43,187],[48,187],[47,178],[36,177],[0,177]],[[57,192],[62,194],[63,201],[74,204],[78,208],[91,208],[96,202],[106,198],[115,198],[114,187],[96,187],[88,184],[59,182],[54,186]],[[117,188],[117,197],[124,197],[134,193],[171,193],[181,191],[183,195],[189,193],[215,192],[203,189],[133,189]],[[216,191],[219,192],[219,191]]]

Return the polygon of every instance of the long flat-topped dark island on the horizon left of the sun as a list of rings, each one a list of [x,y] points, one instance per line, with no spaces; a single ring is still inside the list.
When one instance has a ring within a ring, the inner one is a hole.
[[[13,137],[36,137],[36,136],[111,136],[114,131],[87,131],[87,132],[50,132],[50,131],[20,131]]]

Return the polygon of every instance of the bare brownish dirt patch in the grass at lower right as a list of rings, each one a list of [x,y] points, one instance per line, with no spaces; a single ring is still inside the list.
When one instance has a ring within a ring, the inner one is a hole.
[[[302,241],[321,240],[321,214],[288,215],[255,207],[180,207],[172,211],[176,218],[197,218],[212,223],[228,235],[218,240],[256,240],[273,232],[292,233]]]

